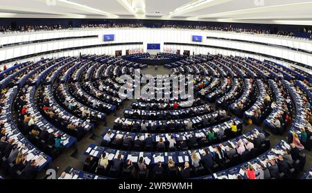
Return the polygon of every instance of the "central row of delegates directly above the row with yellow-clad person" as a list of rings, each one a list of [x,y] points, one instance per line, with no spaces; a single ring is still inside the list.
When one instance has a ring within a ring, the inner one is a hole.
[[[229,116],[227,116],[225,110],[182,120],[131,120],[127,118],[116,118],[114,129],[132,132],[150,131],[150,133],[156,133],[157,131],[162,131],[160,133],[166,131],[191,131],[193,129],[202,129],[211,125],[217,125],[226,120],[229,120]]]

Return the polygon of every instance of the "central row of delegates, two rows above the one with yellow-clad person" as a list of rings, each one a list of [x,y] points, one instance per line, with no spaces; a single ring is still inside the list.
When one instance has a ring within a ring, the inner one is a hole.
[[[170,120],[174,119],[182,119],[200,116],[206,113],[211,113],[214,111],[209,104],[205,104],[199,107],[191,107],[189,109],[181,109],[181,110],[164,110],[164,111],[145,111],[139,109],[125,109],[123,111],[123,116],[125,118],[133,118],[133,119],[146,119],[146,120]]]

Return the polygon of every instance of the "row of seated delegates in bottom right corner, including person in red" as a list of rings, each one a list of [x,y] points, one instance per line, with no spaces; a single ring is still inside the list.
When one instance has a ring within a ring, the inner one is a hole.
[[[306,155],[294,144],[281,140],[275,147],[258,158],[242,165],[216,172],[203,179],[279,179],[296,178],[304,169]]]

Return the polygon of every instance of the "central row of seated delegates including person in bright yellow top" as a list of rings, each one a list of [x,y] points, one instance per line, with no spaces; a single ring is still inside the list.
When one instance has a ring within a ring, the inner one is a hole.
[[[241,135],[241,120],[225,122],[221,125],[175,134],[135,134],[125,133],[106,128],[103,133],[103,147],[136,151],[176,151],[188,150],[196,147],[207,147],[222,143],[229,138]]]

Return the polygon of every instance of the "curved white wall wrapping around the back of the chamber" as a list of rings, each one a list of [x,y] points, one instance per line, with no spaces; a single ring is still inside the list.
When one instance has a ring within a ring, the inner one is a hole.
[[[103,42],[103,35],[114,34],[114,42]],[[82,37],[87,35],[98,35],[98,38],[88,39],[69,39],[55,42],[42,42],[37,44],[26,44],[21,46],[12,46],[8,48],[0,48],[0,61],[10,59],[12,57],[19,57],[23,55],[30,55],[33,53],[40,53],[48,50],[56,50],[62,48],[72,48],[77,46],[91,46],[96,44],[111,44],[111,43],[125,43],[125,42],[143,42],[144,45],[139,48],[144,48],[146,51],[147,44],[161,44],[161,50],[171,48],[164,45],[164,42],[185,43],[185,44],[202,44],[208,46],[220,46],[224,48],[236,48],[240,50],[248,50],[255,53],[263,53],[285,59],[290,59],[295,62],[300,62],[312,66],[312,55],[309,53],[302,53],[287,48],[278,48],[272,46],[263,46],[259,44],[249,44],[243,42],[234,42],[220,39],[207,39],[206,37],[223,37],[229,39],[242,39],[253,42],[262,42],[269,44],[277,44],[281,46],[291,46],[304,50],[312,50],[312,42],[304,39],[293,39],[285,37],[273,37],[268,35],[250,35],[243,33],[225,33],[220,31],[209,30],[186,30],[186,29],[167,29],[167,28],[107,28],[107,29],[76,29],[76,30],[55,30],[48,32],[35,33],[12,33],[1,34],[0,44],[11,44],[17,42],[28,42],[39,39],[52,39],[58,37]],[[202,42],[192,42],[192,35],[201,35]],[[123,50],[125,54],[126,49],[137,48],[138,46],[107,46],[99,48],[83,49],[83,52],[91,54],[107,54],[114,55],[114,50]],[[177,49],[177,47],[173,48]],[[207,54],[207,48],[198,46],[181,46],[179,48],[181,53],[183,50],[190,50],[195,54]],[[212,50],[212,49],[210,49]],[[79,53],[81,50],[72,50],[69,53]],[[82,53],[83,53],[82,52]],[[92,53],[94,52],[94,53]],[[66,52],[67,53],[67,52]],[[214,50],[210,53],[215,53]],[[58,54],[59,55],[59,54]],[[60,54],[62,55],[62,54]]]

